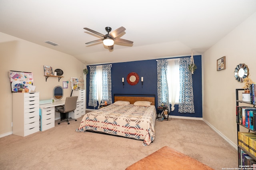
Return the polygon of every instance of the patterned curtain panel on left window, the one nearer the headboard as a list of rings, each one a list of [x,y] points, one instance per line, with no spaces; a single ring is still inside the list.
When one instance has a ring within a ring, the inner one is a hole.
[[[102,101],[112,104],[111,64],[102,65]]]

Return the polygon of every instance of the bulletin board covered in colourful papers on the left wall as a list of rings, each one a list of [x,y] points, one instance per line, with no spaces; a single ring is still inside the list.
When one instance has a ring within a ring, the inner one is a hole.
[[[19,89],[29,89],[29,91],[34,91],[35,86],[33,86],[33,73],[24,71],[9,71],[9,77],[11,82],[12,93],[18,92]]]

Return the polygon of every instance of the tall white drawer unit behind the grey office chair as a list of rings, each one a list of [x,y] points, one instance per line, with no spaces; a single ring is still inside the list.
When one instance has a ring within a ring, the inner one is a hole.
[[[74,112],[69,112],[68,116],[72,117],[73,119],[77,119],[82,115],[85,115],[86,92],[85,90],[73,90],[72,96],[78,96],[78,102],[76,103],[76,110]]]

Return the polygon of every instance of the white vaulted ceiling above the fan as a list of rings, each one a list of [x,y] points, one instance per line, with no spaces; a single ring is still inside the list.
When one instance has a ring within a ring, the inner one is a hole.
[[[256,0],[0,0],[0,32],[91,65],[202,54],[254,12]],[[133,45],[85,44],[100,38],[83,28],[106,26]]]

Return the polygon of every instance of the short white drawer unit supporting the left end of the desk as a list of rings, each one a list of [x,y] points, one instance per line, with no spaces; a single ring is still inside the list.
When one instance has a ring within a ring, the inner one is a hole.
[[[55,107],[40,107],[40,130],[44,131],[55,126]]]

